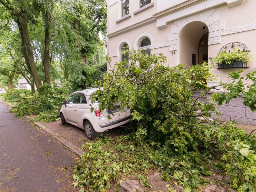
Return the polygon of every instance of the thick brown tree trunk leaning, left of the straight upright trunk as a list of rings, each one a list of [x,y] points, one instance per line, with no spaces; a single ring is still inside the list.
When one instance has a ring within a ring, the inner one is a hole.
[[[32,74],[37,91],[40,92],[40,86],[42,85],[39,75],[36,70],[36,64],[34,60],[34,54],[32,45],[30,42],[30,37],[28,34],[28,20],[25,17],[19,16],[16,19],[16,23],[19,27],[20,36],[21,36],[21,51],[25,59],[25,63],[28,67],[29,72]]]

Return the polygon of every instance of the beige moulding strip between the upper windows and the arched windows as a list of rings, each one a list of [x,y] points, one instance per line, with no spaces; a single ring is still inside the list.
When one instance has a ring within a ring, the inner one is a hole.
[[[145,26],[145,25],[148,25],[148,24],[154,23],[154,22],[156,22],[156,19],[155,19],[154,17],[151,17],[151,18],[149,18],[149,19],[147,19],[147,20],[141,21],[141,22],[139,22],[139,23],[135,23],[135,24],[133,24],[133,25],[131,25],[131,26],[129,26],[129,27],[126,27],[126,28],[121,29],[121,30],[118,30],[118,31],[116,31],[116,32],[114,32],[114,33],[108,34],[107,37],[108,37],[108,38],[112,38],[112,37],[115,37],[115,36],[124,34],[124,33],[126,33],[126,32],[132,31],[132,30],[134,30],[134,29],[143,27],[143,26]]]

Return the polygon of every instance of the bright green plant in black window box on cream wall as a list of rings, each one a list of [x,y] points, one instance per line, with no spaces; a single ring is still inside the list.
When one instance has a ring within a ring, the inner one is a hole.
[[[239,51],[236,48],[233,52],[220,51],[214,58],[214,62],[219,65],[219,68],[244,68],[249,61],[248,52]]]

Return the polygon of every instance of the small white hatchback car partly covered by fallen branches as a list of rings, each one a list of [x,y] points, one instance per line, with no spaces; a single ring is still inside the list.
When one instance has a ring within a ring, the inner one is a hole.
[[[131,112],[128,107],[120,111],[119,103],[116,102],[114,109],[105,109],[100,112],[98,102],[94,101],[94,111],[90,112],[90,95],[100,88],[91,88],[73,92],[66,101],[62,102],[60,109],[60,119],[63,125],[72,124],[84,129],[88,139],[92,140],[98,133],[105,132],[120,125],[126,124],[131,120]],[[114,114],[111,115],[111,111]],[[108,116],[111,119],[108,119]]]

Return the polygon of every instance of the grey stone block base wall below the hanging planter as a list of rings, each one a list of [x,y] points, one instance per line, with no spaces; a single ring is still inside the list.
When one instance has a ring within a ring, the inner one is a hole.
[[[243,98],[239,96],[228,104],[217,106],[222,115],[212,114],[212,118],[220,118],[220,121],[236,121],[238,124],[256,125],[256,112],[243,105]]]

